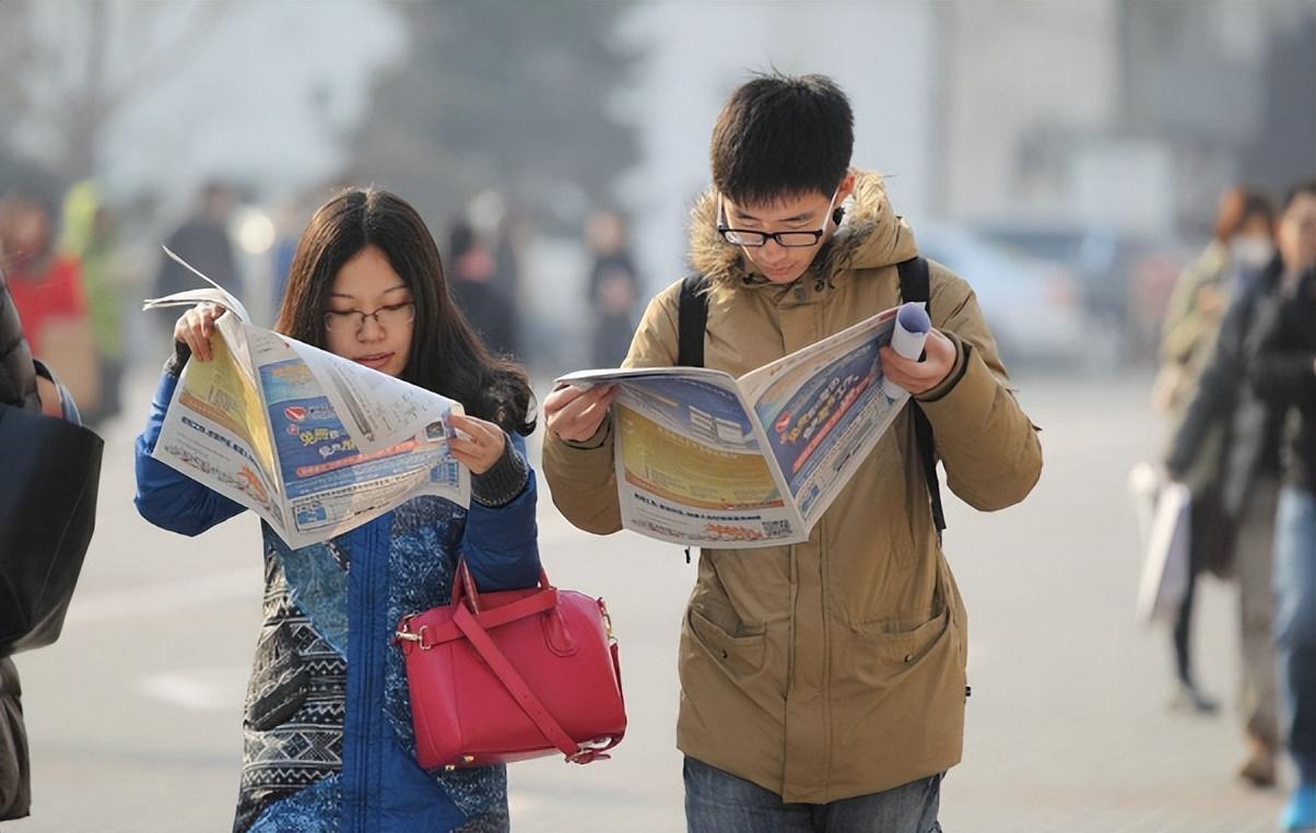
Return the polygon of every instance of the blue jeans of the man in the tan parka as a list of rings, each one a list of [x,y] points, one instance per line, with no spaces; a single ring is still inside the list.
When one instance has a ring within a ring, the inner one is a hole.
[[[686,758],[690,833],[941,833],[942,775],[830,804],[787,804],[771,790]]]

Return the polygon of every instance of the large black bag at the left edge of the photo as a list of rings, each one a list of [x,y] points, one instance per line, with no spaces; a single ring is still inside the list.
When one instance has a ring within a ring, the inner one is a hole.
[[[59,637],[96,524],[104,442],[0,404],[0,657]]]

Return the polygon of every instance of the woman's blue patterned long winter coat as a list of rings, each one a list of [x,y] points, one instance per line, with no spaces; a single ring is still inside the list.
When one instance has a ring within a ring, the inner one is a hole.
[[[137,438],[137,508],[196,536],[242,507],[153,459],[178,380],[166,374]],[[525,445],[513,436],[522,461]],[[526,466],[528,468],[528,466]],[[325,543],[290,549],[262,524],[265,620],[243,720],[234,830],[505,830],[503,767],[416,763],[401,653],[407,613],[446,604],[458,553],[482,590],[538,579],[536,484],[499,508],[417,497]]]

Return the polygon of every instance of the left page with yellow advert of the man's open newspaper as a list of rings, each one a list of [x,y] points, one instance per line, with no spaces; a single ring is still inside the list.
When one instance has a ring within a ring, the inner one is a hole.
[[[572,384],[615,386],[621,521],[692,546],[804,541],[799,512],[730,375],[696,367],[582,371]]]

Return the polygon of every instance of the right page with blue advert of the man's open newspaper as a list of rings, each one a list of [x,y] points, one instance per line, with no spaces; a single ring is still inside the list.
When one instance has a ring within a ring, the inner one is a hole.
[[[909,399],[882,390],[878,349],[899,308],[878,313],[740,378],[767,449],[812,526]]]

